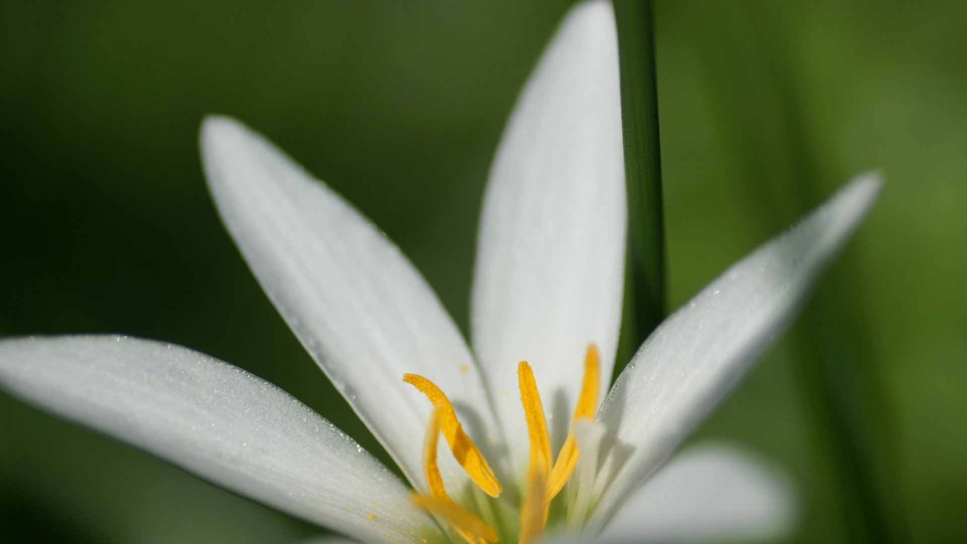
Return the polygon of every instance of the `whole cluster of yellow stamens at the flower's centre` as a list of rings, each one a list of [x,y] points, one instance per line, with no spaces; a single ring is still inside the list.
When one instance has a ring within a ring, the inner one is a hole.
[[[454,459],[466,470],[474,484],[486,495],[498,498],[503,492],[503,487],[487,464],[484,454],[463,431],[463,426],[456,417],[454,405],[435,383],[415,374],[403,375],[403,381],[423,392],[433,404],[424,442],[424,475],[428,494],[416,494],[414,502],[429,513],[446,520],[447,524],[470,544],[496,542],[497,530],[491,524],[454,502],[447,494],[437,464],[436,454],[440,434],[442,433],[447,439]],[[550,433],[547,430],[547,419],[544,417],[534,371],[527,361],[521,361],[517,365],[520,402],[524,408],[530,440],[530,465],[527,469],[526,490],[519,505],[520,529],[517,537],[519,542],[529,543],[541,536],[547,525],[551,500],[571,479],[571,474],[580,458],[581,440],[575,435],[575,429],[581,427],[582,421],[594,419],[595,410],[598,408],[600,382],[601,365],[598,348],[592,344],[588,347],[584,358],[584,378],[581,380],[581,391],[571,418],[571,431],[552,464]],[[594,453],[597,453],[596,448]],[[587,471],[582,469],[581,472],[580,479],[583,481],[585,479],[583,473]],[[590,488],[590,482],[581,487]],[[590,496],[581,491],[584,490],[578,491],[575,510],[581,511],[583,516]]]

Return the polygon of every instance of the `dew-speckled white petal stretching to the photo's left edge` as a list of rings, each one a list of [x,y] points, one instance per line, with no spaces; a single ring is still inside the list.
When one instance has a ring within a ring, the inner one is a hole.
[[[436,528],[406,486],[334,425],[275,385],[190,349],[117,336],[6,340],[0,387],[366,542]]]

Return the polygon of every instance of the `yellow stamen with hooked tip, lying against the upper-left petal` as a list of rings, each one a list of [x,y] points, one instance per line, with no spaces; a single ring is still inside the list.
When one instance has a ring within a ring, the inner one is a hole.
[[[456,462],[467,471],[470,478],[484,490],[485,494],[494,498],[500,497],[503,488],[497,481],[497,476],[487,465],[484,454],[481,453],[477,444],[463,432],[463,427],[456,418],[454,405],[450,403],[447,395],[435,383],[416,374],[404,374],[403,381],[423,392],[429,402],[433,403],[433,406],[439,410],[439,427],[443,431],[443,437],[447,438],[447,443],[450,444],[450,450],[454,452]],[[433,462],[436,463],[435,453],[432,457],[434,458]]]

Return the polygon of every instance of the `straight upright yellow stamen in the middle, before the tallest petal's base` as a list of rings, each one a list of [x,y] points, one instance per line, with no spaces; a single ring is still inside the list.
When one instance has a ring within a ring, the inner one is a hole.
[[[538,392],[534,371],[527,361],[517,365],[520,403],[524,406],[527,434],[531,441],[531,465],[527,469],[527,495],[520,507],[520,541],[531,542],[541,536],[547,524],[550,502],[547,493],[547,472],[550,467],[550,433],[544,417],[541,394]]]

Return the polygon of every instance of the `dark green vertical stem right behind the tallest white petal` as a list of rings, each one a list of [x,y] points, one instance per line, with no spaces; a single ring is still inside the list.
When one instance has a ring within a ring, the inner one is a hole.
[[[614,0],[614,7],[629,216],[621,365],[664,317],[665,267],[654,5]]]

